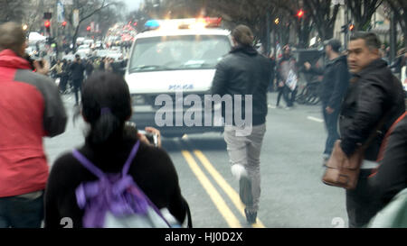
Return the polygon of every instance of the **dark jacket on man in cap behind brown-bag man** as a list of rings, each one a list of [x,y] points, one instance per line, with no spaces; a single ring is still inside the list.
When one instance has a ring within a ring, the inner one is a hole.
[[[325,68],[312,67],[309,72],[324,76],[320,95],[322,103],[340,110],[350,79],[346,57],[340,56],[330,60]]]

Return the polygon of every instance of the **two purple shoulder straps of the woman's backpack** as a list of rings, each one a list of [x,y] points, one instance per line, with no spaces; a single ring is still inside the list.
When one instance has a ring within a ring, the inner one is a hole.
[[[130,151],[128,155],[128,159],[123,167],[121,172],[122,177],[128,174],[128,169],[130,169],[131,162],[136,157],[138,147],[140,146],[140,141],[137,141],[136,144],[133,146],[133,149]],[[105,174],[102,170],[98,169],[89,159],[87,159],[84,155],[80,153],[79,150],[72,150],[72,155],[75,159],[78,159],[80,164],[85,168],[88,169],[92,174],[94,174],[98,178],[105,177]]]

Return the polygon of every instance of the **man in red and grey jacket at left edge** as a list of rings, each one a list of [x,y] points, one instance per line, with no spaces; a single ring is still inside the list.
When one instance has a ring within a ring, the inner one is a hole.
[[[67,116],[55,83],[24,59],[21,25],[4,23],[0,33],[0,228],[40,227],[49,173],[43,137],[64,132]]]

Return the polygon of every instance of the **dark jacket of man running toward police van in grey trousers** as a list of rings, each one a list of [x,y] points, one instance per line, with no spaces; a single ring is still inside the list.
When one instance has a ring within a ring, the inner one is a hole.
[[[253,125],[260,125],[266,122],[270,75],[269,59],[250,46],[238,46],[218,63],[211,94],[242,96],[243,100],[245,95],[252,95]],[[245,115],[243,104],[242,115]]]

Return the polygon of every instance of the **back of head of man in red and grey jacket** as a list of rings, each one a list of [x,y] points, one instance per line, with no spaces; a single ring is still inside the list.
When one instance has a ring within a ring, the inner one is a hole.
[[[18,53],[23,46],[26,33],[19,23],[3,23],[0,25],[0,51],[13,50]]]

